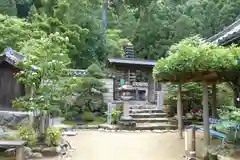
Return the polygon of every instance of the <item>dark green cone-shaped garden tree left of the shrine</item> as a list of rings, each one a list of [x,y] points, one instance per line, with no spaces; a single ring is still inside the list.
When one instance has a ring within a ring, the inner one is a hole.
[[[103,93],[106,92],[104,83],[101,81],[105,74],[101,68],[92,64],[87,69],[87,75],[80,77],[74,86],[72,105],[69,106],[66,118],[71,119],[82,112],[98,112],[103,114],[105,112],[105,104],[103,101]]]

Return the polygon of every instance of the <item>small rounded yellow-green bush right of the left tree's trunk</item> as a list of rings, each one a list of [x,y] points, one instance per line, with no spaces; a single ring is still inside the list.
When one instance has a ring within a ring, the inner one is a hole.
[[[48,146],[57,146],[61,139],[61,131],[59,128],[49,127],[45,136],[45,141]]]

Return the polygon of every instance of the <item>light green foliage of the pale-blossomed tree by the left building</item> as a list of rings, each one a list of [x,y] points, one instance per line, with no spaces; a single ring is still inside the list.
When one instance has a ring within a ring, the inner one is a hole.
[[[26,59],[18,62],[17,66],[23,71],[16,77],[20,83],[31,88],[32,93],[14,100],[13,106],[30,111],[49,111],[56,100],[66,96],[60,81],[69,63],[66,39],[55,33],[41,39],[30,39],[22,46]]]

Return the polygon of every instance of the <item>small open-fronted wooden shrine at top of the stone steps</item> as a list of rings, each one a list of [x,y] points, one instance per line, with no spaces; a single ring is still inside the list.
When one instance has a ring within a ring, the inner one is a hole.
[[[107,68],[114,75],[113,99],[119,100],[121,93],[118,90],[124,84],[134,88],[134,101],[148,101],[155,103],[156,90],[159,84],[153,80],[152,69],[156,64],[154,60],[136,59],[132,46],[124,46],[124,58],[108,58]]]

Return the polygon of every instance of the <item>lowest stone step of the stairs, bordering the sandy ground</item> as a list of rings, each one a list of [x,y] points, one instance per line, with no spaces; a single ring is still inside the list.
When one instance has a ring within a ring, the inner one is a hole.
[[[177,129],[176,125],[168,123],[138,123],[136,125],[136,130],[173,130]]]

